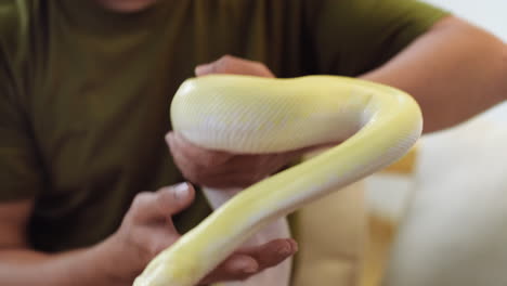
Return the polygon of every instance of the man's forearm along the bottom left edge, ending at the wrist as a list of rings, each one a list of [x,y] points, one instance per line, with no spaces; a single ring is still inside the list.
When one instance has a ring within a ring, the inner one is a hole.
[[[105,243],[107,244],[107,243]],[[47,255],[29,249],[0,250],[0,284],[10,286],[123,286],[112,275],[110,257],[104,244]]]

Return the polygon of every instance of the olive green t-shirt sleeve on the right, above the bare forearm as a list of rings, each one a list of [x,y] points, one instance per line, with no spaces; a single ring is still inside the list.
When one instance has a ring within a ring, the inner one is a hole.
[[[308,32],[320,74],[378,67],[448,12],[415,0],[309,0]]]

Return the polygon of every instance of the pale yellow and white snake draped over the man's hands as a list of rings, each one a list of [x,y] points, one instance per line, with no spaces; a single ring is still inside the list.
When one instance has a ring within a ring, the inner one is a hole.
[[[234,196],[153,259],[134,286],[195,286],[263,225],[398,160],[422,128],[408,94],[338,76],[187,79],[171,120],[191,142],[234,153],[342,143]]]

